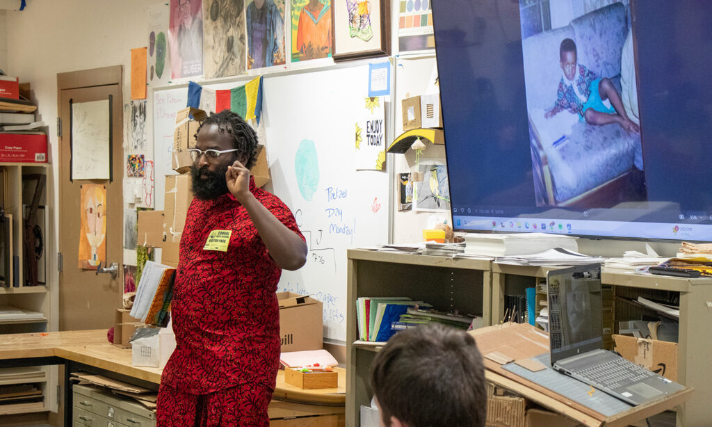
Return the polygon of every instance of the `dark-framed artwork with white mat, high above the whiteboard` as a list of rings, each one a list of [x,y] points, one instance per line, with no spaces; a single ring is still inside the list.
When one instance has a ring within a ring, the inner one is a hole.
[[[334,60],[391,54],[391,0],[333,0]]]

